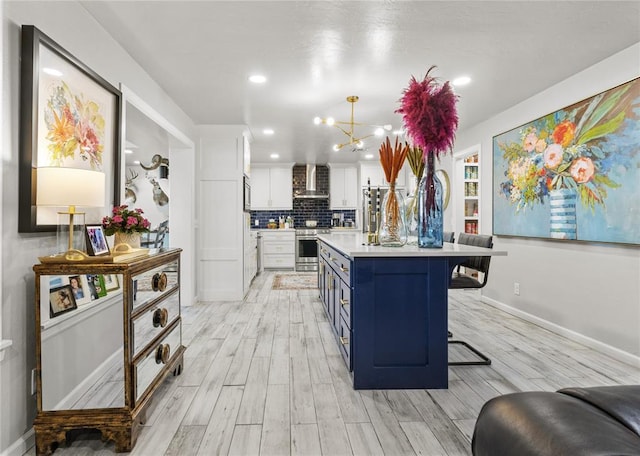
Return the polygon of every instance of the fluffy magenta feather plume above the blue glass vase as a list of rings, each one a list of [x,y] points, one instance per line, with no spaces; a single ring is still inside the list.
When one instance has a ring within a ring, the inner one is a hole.
[[[434,68],[429,68],[422,81],[411,77],[396,113],[402,114],[413,145],[422,147],[425,154],[438,157],[453,148],[458,128],[458,96],[453,93],[449,81],[440,85],[436,78],[429,76]]]

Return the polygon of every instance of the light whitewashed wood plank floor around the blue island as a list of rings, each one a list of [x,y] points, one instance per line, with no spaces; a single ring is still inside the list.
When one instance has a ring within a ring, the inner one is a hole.
[[[273,276],[243,302],[183,308],[184,372],[161,387],[132,455],[469,455],[494,396],[640,383],[638,368],[452,291],[449,329],[493,364],[450,367],[447,390],[354,391],[317,290],[272,290]],[[85,454],[114,446],[85,434],[54,453]]]

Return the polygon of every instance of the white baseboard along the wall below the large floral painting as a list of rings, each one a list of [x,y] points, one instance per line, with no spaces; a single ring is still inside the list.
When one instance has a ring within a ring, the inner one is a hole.
[[[535,315],[531,315],[530,313],[524,312],[520,309],[516,309],[514,307],[508,306],[500,301],[496,301],[495,299],[491,299],[486,296],[482,296],[481,299],[482,299],[482,302],[489,304],[490,306],[493,306],[504,312],[507,312],[508,314],[522,318],[523,320],[536,324],[544,329],[548,329],[549,331],[556,333],[560,336],[566,337],[567,339],[570,339],[574,342],[577,342],[589,348],[593,348],[594,350],[604,353],[605,355],[611,356],[612,358],[617,359],[618,361],[630,364],[635,367],[640,367],[639,356],[625,352],[623,350],[620,350],[619,348],[612,347],[611,345],[607,345],[604,342],[600,342],[599,340],[592,339],[591,337],[577,333],[571,329],[567,329],[563,326],[544,320],[540,317],[536,317]]]

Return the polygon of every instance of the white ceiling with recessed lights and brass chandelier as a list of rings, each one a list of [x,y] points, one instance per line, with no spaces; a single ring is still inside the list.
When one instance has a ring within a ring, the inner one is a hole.
[[[313,118],[348,121],[358,95],[356,122],[400,128],[403,89],[432,65],[472,78],[456,88],[461,131],[640,42],[639,1],[80,3],[194,123],[247,125],[252,162],[363,160]],[[380,142],[366,140],[376,159]]]

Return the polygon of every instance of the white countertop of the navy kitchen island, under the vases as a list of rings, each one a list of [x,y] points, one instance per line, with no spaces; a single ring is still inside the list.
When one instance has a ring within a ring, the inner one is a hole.
[[[364,245],[366,236],[357,232],[332,232],[319,234],[318,239],[326,242],[345,255],[354,257],[420,257],[420,256],[506,256],[506,250],[485,249],[464,244],[450,244],[445,242],[441,249],[423,249],[417,245],[403,247],[382,247],[379,245]]]

